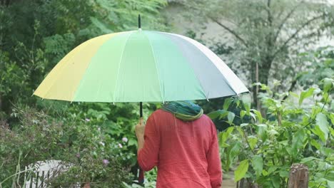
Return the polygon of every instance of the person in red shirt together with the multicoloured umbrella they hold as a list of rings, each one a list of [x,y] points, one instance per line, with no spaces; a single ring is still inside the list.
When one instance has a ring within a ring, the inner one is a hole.
[[[139,102],[142,117],[142,102],[209,100],[248,92],[209,48],[175,33],[142,30],[139,16],[138,30],[97,36],[66,54],[34,95],[71,103]],[[158,187],[220,186],[216,130],[198,110],[188,102],[168,103],[148,118],[146,133],[142,120],[137,126],[143,147],[138,160],[146,170],[158,166]],[[142,184],[143,171],[139,174]]]

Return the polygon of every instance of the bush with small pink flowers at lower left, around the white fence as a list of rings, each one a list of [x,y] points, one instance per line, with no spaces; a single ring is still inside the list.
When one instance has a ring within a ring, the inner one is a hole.
[[[34,109],[19,109],[13,113],[20,120],[19,126],[11,130],[2,123],[0,127],[2,187],[19,187],[24,177],[22,168],[51,159],[72,164],[69,171],[52,179],[50,183],[56,187],[76,182],[93,182],[101,187],[131,182],[133,177],[128,172],[133,155],[127,152],[125,141],[114,139],[103,127],[84,119],[57,120]],[[9,178],[17,172],[21,172],[21,177],[15,176],[17,181]]]

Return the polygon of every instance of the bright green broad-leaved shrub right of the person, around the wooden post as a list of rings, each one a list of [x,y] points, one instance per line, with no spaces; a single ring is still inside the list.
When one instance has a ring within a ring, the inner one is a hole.
[[[241,117],[236,125],[221,116],[231,127],[220,132],[223,169],[238,164],[235,180],[246,178],[262,187],[286,187],[290,166],[305,163],[309,167],[310,187],[326,187],[333,182],[334,173],[334,80],[320,88],[308,88],[296,93],[273,93],[268,86],[261,100],[268,108],[268,119],[248,105],[234,116]],[[283,100],[289,95],[287,100]],[[308,98],[308,104],[305,99]],[[311,100],[312,99],[312,100]],[[299,100],[300,103],[295,103]],[[236,100],[235,100],[236,101]],[[241,103],[239,103],[241,104]],[[224,111],[216,113],[223,115]],[[231,112],[228,112],[231,113]],[[243,121],[249,115],[250,121]]]

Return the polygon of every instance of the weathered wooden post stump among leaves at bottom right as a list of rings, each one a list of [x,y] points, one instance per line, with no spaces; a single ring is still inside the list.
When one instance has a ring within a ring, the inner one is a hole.
[[[290,167],[288,188],[308,188],[308,167],[305,164]]]

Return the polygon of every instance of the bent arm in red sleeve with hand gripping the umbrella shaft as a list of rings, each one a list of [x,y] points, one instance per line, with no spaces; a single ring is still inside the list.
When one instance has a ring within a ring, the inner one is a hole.
[[[138,164],[141,169],[148,171],[158,164],[160,145],[160,138],[152,116],[148,117],[146,126],[143,125],[142,121],[136,126],[136,135],[138,139]]]

